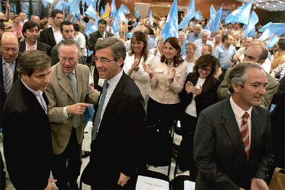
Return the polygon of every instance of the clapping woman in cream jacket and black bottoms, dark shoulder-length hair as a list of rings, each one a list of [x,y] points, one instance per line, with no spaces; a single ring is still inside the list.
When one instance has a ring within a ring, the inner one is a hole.
[[[178,118],[180,98],[186,79],[187,65],[180,55],[181,46],[176,37],[165,41],[160,59],[153,61],[153,67],[145,64],[151,78],[151,92],[147,104],[147,125],[156,125],[169,130],[173,120]]]

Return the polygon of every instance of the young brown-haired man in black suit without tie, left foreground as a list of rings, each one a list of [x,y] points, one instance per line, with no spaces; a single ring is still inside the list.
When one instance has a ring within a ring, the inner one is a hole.
[[[43,92],[50,82],[50,57],[25,52],[17,65],[21,79],[3,107],[3,147],[10,180],[16,189],[45,189],[50,178],[52,140]]]

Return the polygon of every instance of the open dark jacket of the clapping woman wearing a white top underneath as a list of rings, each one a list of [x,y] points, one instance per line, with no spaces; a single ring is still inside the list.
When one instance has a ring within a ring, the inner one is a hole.
[[[185,111],[185,109],[193,99],[193,93],[187,94],[185,90],[185,84],[187,83],[187,81],[190,81],[195,86],[198,81],[198,78],[193,78],[193,73],[189,73],[186,78],[184,87],[179,94],[179,98],[182,105],[182,112]],[[213,81],[210,81],[210,78],[207,78],[207,80],[204,82],[201,94],[194,98],[196,102],[197,116],[203,109],[209,107],[210,105],[213,105],[214,103],[218,103],[217,89],[219,85],[220,81],[217,78],[213,78]]]

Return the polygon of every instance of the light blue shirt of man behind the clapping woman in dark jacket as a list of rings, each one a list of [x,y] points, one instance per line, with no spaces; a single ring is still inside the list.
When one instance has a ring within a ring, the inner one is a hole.
[[[222,70],[226,70],[227,68],[231,67],[231,59],[233,59],[233,56],[236,52],[237,51],[235,50],[235,47],[233,47],[233,45],[230,45],[229,48],[226,49],[221,43],[220,45],[215,47],[213,56],[215,56],[220,61]]]

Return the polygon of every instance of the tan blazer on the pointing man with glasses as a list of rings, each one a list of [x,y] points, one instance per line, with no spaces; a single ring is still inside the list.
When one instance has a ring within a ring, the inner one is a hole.
[[[75,71],[78,86],[78,102],[96,104],[99,92],[88,86],[89,68],[86,65],[77,64]],[[52,66],[50,84],[45,94],[49,101],[47,114],[50,118],[50,127],[52,129],[52,149],[54,154],[61,154],[70,140],[73,120],[73,116],[65,118],[63,107],[76,103],[72,87],[66,74],[63,72],[61,63]],[[81,116],[81,121],[81,125],[76,128],[78,144],[81,144],[83,139],[83,116]]]

